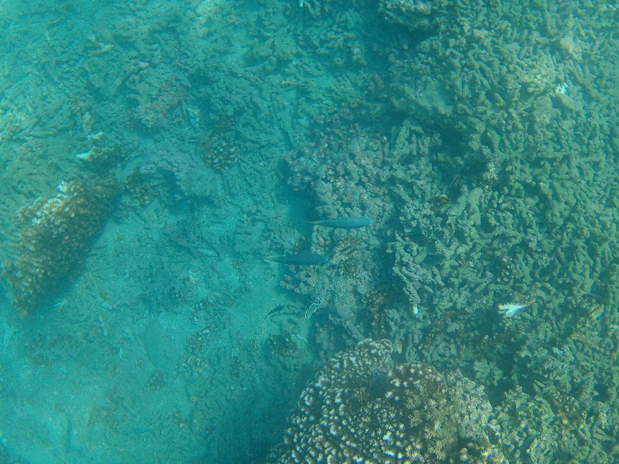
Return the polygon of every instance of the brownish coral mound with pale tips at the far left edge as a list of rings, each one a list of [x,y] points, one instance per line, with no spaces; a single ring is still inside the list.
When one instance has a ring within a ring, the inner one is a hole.
[[[75,272],[102,230],[116,193],[115,181],[108,178],[62,182],[58,190],[19,210],[19,236],[2,264],[2,277],[22,316]]]

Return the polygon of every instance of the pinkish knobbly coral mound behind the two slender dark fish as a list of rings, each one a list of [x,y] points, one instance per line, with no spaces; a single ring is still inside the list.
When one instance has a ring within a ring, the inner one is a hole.
[[[369,226],[354,230],[330,230],[314,226],[312,249],[330,257],[330,265],[311,276],[293,270],[285,278],[287,287],[311,299],[328,296],[336,312],[329,319],[338,337],[362,340],[360,327],[365,315],[363,295],[376,288],[389,269],[376,266],[385,262],[384,243],[389,233],[394,204],[386,187],[391,168],[398,159],[386,158],[389,144],[381,127],[370,129],[355,122],[363,108],[340,108],[336,114],[317,118],[312,131],[316,142],[287,154],[288,184],[316,204],[319,218],[367,216]],[[344,330],[340,330],[343,328]],[[384,334],[378,334],[384,337]]]

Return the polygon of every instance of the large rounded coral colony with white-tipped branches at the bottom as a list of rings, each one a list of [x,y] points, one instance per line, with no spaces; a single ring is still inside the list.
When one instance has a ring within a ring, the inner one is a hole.
[[[267,462],[501,463],[483,387],[460,372],[391,364],[391,343],[337,354],[301,394]]]

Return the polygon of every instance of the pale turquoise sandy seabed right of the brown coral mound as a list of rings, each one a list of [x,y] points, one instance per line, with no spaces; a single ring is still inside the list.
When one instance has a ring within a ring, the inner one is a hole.
[[[241,176],[238,166],[222,183]],[[287,220],[259,215],[285,211],[279,187],[264,184],[191,212],[119,203],[56,298],[25,319],[2,301],[7,458],[249,462],[267,452],[313,356],[303,301],[282,290],[282,265],[261,259],[271,246],[253,233]],[[295,356],[278,351],[282,333]]]

